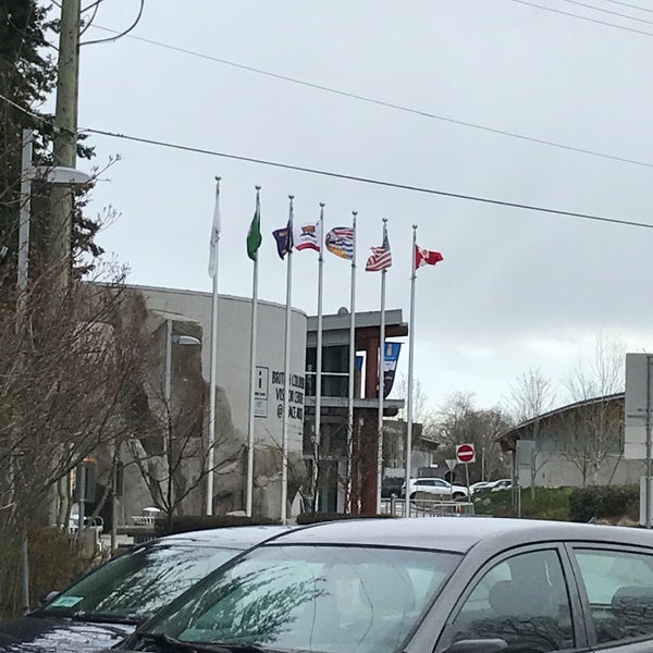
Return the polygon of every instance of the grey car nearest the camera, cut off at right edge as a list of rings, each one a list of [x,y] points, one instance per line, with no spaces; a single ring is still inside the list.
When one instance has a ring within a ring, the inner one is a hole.
[[[501,518],[320,523],[162,608],[122,651],[644,653],[653,537]]]

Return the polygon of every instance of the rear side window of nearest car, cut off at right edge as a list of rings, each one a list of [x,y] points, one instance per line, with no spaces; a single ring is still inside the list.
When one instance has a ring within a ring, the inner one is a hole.
[[[653,556],[577,549],[599,643],[653,637]]]

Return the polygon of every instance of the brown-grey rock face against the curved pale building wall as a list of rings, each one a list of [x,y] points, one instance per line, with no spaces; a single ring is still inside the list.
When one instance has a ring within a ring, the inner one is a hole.
[[[201,373],[201,347],[174,342],[192,336],[201,342],[201,326],[183,316],[143,311],[137,291],[134,304],[141,316],[145,342],[140,377],[130,381],[125,402],[128,438],[121,446],[124,495],[119,516],[123,523],[143,509],[156,506],[175,515],[206,512],[209,385]],[[170,331],[172,328],[172,331]],[[170,346],[170,333],[173,344]],[[188,340],[188,338],[186,338]],[[168,358],[170,356],[170,359]],[[170,379],[170,399],[165,378]],[[98,452],[98,481],[109,482],[112,451]],[[272,441],[255,449],[254,514],[278,518],[281,501],[280,447]],[[224,387],[215,391],[215,446],[213,514],[245,509],[246,436],[234,428]],[[289,506],[307,473],[299,454],[288,456]]]

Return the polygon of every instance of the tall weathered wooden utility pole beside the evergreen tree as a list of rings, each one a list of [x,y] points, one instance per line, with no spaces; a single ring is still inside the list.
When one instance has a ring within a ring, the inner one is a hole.
[[[53,163],[56,167],[75,168],[77,159],[79,20],[81,0],[62,0],[53,140]],[[59,280],[63,287],[67,285],[71,268],[73,199],[74,189],[72,187],[52,187],[50,255],[53,263],[62,266]]]

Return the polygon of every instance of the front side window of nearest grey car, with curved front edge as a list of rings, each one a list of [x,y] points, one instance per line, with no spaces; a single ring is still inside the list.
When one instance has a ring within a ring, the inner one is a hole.
[[[575,646],[571,607],[554,550],[509,557],[478,581],[451,624],[453,641],[503,639],[510,651]]]

